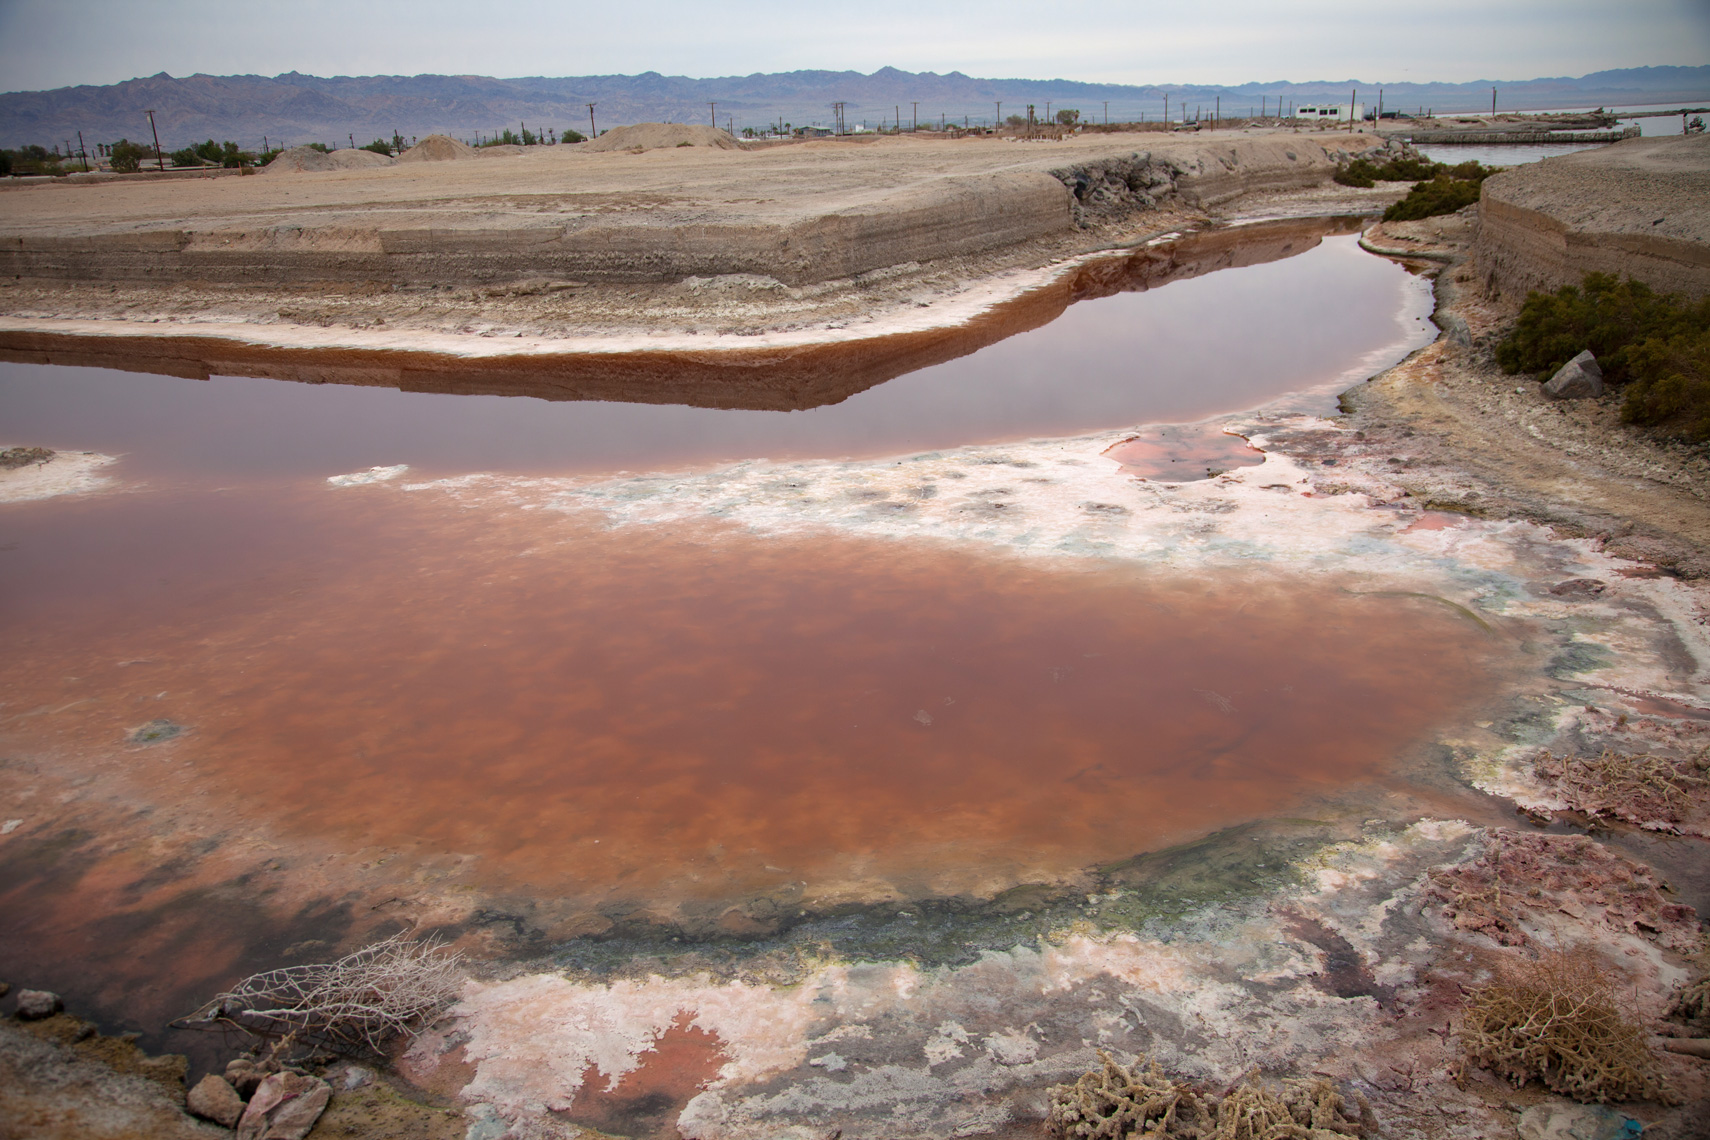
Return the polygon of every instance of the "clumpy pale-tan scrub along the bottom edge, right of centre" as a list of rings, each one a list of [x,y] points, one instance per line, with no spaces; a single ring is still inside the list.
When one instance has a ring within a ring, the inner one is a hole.
[[[1050,1090],[1050,1135],[1064,1140],[1342,1140],[1375,1135],[1365,1099],[1349,1102],[1324,1078],[1267,1085],[1257,1077],[1216,1096],[1166,1077],[1158,1061],[1120,1065],[1100,1049],[1100,1068]]]

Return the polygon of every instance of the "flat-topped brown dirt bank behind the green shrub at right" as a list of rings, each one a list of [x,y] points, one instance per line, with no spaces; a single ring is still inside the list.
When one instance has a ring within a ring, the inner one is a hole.
[[[1524,297],[1585,273],[1710,292],[1710,137],[1633,138],[1484,181],[1474,244],[1484,289]]]

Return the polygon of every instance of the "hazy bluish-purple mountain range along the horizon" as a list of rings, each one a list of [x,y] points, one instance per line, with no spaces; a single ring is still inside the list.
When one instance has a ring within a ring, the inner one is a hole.
[[[1491,87],[1498,109],[1619,106],[1643,103],[1705,104],[1710,101],[1710,67],[1638,67],[1594,72],[1578,79],[1479,80],[1472,84],[1383,84],[1383,104],[1406,111],[1488,109]],[[373,138],[446,133],[474,140],[527,123],[530,130],[566,126],[588,130],[588,103],[600,130],[643,121],[705,123],[737,130],[788,121],[797,126],[831,123],[834,101],[846,104],[850,123],[879,126],[903,123],[918,113],[922,126],[940,116],[980,123],[1002,113],[1026,113],[1035,104],[1043,118],[1076,108],[1082,118],[1101,120],[1108,101],[1112,121],[1142,115],[1156,121],[1170,99],[1171,116],[1182,108],[1211,115],[1247,115],[1276,109],[1277,99],[1294,104],[1344,101],[1351,89],[1377,103],[1378,84],[1334,80],[1310,84],[1123,85],[1081,84],[1064,79],[971,79],[961,72],[781,72],[727,79],[682,75],[581,75],[566,79],[489,79],[484,75],[339,75],[320,79],[287,72],[265,75],[168,73],[106,87],[60,87],[0,94],[0,145],[63,145],[84,133],[86,144],[120,137],[149,138],[144,111],[154,109],[161,144],[183,147],[203,138],[231,138],[245,147],[325,142],[357,145]],[[918,104],[918,111],[917,111]]]

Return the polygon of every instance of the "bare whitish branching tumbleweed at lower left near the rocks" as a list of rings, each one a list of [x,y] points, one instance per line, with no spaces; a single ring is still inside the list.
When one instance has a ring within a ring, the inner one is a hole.
[[[414,1034],[457,1000],[462,955],[402,933],[337,962],[289,966],[245,978],[183,1020],[236,1025],[263,1039],[380,1051]]]

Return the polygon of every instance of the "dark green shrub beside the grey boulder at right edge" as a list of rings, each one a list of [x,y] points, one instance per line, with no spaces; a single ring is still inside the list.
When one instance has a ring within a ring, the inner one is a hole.
[[[1631,277],[1587,273],[1580,285],[1527,296],[1513,333],[1496,345],[1496,362],[1507,373],[1548,378],[1590,349],[1604,379],[1619,385],[1636,378],[1630,373],[1633,345],[1672,342],[1707,325],[1710,299],[1688,304]]]

